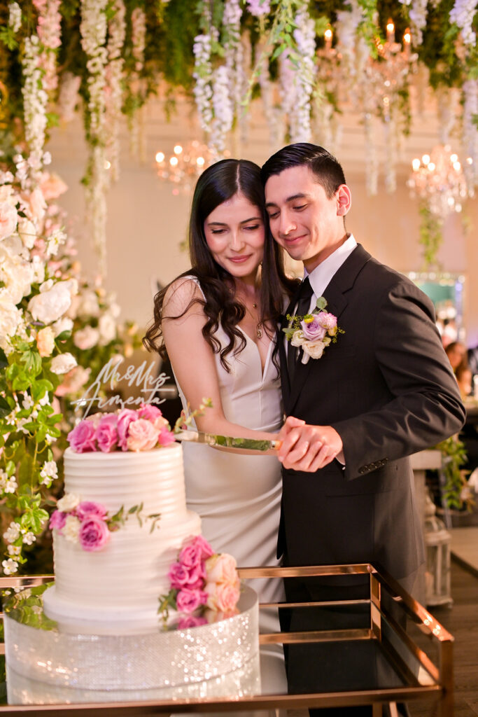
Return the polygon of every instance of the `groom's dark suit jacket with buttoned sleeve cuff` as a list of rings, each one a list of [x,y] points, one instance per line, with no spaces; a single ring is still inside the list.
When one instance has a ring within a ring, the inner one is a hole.
[[[292,382],[279,339],[282,394],[287,415],[338,431],[345,468],[283,471],[278,554],[290,565],[372,562],[400,579],[424,559],[408,456],[462,427],[457,381],[431,301],[360,244],[324,296],[345,333]]]

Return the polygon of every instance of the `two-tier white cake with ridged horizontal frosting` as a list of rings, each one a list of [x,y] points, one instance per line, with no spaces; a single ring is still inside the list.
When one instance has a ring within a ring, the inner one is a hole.
[[[72,541],[71,527],[54,529],[55,584],[44,594],[47,616],[75,630],[157,627],[158,597],[170,587],[168,569],[187,539],[201,532],[201,519],[186,508],[181,446],[140,452],[67,448],[64,490],[101,504],[108,516],[142,505],[141,522],[136,513],[128,516],[101,549]]]

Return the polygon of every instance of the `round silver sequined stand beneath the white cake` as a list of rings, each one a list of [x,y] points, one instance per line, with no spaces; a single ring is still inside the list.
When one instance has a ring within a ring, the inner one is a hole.
[[[43,612],[45,587],[5,605],[9,703],[24,703],[25,693],[34,703],[45,690],[51,699],[81,702],[145,699],[145,691],[158,700],[260,692],[259,609],[249,587],[234,617],[139,635],[62,631]]]

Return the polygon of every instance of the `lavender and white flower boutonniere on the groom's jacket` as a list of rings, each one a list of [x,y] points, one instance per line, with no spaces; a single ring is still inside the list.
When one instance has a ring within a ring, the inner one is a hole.
[[[335,343],[339,333],[345,333],[337,326],[337,317],[325,310],[327,301],[323,296],[317,299],[312,313],[305,316],[287,314],[289,326],[283,328],[287,341],[292,346],[302,346],[302,364],[320,359],[329,343]]]

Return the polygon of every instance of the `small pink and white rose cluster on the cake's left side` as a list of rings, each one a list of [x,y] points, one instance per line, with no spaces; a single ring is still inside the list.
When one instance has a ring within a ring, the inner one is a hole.
[[[107,511],[100,503],[83,500],[67,493],[57,502],[49,520],[50,528],[70,543],[80,543],[83,550],[101,550],[110,539]]]

